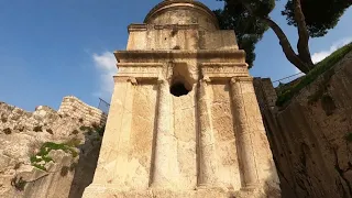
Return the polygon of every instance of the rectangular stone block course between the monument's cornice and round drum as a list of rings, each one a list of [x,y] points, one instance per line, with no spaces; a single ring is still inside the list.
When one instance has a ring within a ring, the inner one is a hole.
[[[239,48],[233,31],[199,31],[198,24],[131,24],[128,50]]]

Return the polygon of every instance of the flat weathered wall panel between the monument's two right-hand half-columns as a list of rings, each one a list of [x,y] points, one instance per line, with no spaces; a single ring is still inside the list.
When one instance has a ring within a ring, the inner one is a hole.
[[[237,152],[237,132],[234,131],[230,85],[212,82],[210,87],[211,113],[217,155],[219,156],[219,178],[228,188],[240,190],[241,177]]]

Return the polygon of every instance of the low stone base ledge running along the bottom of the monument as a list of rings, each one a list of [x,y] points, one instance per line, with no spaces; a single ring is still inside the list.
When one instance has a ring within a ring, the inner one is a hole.
[[[90,185],[82,198],[264,198],[261,190],[230,191],[222,188],[198,188],[196,190],[147,189],[123,191],[112,186]],[[270,196],[273,197],[273,196]],[[274,196],[276,197],[276,196]],[[274,198],[273,197],[273,198]],[[279,196],[278,196],[279,197]]]

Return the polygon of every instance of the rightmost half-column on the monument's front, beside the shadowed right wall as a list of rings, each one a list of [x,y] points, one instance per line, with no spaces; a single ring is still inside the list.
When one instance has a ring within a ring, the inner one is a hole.
[[[252,82],[252,77],[233,77],[231,84],[231,97],[233,100],[233,114],[238,140],[238,153],[241,164],[243,188],[254,188],[258,185],[258,175],[253,148],[252,123],[248,118],[248,107],[245,105],[243,84]],[[252,85],[253,87],[253,85]],[[254,91],[253,91],[253,95]],[[254,96],[255,97],[255,96]],[[254,123],[255,124],[255,123]]]

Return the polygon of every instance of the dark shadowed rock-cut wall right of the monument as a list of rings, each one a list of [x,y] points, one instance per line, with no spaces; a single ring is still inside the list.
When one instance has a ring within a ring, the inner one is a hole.
[[[352,197],[352,53],[283,109],[255,85],[283,197]]]

